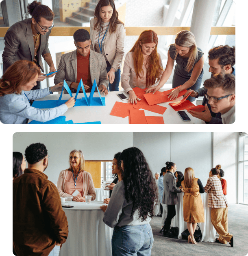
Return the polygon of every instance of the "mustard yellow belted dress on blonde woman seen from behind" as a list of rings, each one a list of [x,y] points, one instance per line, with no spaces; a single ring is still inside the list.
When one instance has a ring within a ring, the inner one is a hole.
[[[200,196],[199,185],[197,184],[197,181],[198,178],[194,178],[194,185],[192,188],[185,188],[184,181],[182,181],[184,190],[183,219],[185,222],[205,222],[202,198]]]

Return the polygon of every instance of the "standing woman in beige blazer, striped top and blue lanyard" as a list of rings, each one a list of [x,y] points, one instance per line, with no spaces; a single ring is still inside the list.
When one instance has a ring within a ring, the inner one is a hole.
[[[118,19],[114,1],[100,0],[94,18],[90,20],[91,49],[102,53],[107,62],[110,91],[119,90],[125,35],[125,27]]]

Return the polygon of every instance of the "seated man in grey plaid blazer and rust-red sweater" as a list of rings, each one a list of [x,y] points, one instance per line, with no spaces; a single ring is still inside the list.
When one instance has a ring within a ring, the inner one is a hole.
[[[99,91],[107,95],[109,79],[106,79],[107,64],[103,55],[90,51],[91,40],[87,30],[78,29],[73,38],[76,50],[61,56],[59,72],[55,75],[54,83],[63,82],[65,79],[72,93],[76,93],[80,79],[82,79],[85,91],[90,92],[94,79],[96,79]],[[83,90],[80,89],[80,92]]]

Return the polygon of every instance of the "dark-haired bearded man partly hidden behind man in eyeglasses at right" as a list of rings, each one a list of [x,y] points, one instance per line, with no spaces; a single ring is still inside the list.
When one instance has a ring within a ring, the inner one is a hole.
[[[228,45],[215,46],[209,50],[209,72],[211,72],[211,77],[220,72],[225,74],[235,75],[235,46],[231,47]],[[188,90],[185,93],[184,98],[190,93],[192,97],[204,96],[202,100],[202,105],[205,106],[204,112],[188,111],[193,117],[197,117],[205,121],[206,124],[222,124],[221,113],[214,113],[208,103],[208,99],[205,96],[207,93],[207,88],[202,87],[196,91]],[[206,105],[207,104],[207,105]]]

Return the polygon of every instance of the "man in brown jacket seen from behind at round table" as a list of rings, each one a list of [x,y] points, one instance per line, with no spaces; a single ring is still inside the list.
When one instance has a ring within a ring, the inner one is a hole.
[[[68,236],[68,223],[56,186],[44,174],[46,146],[25,150],[28,169],[13,181],[13,250],[17,256],[57,256]]]

